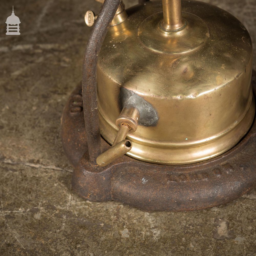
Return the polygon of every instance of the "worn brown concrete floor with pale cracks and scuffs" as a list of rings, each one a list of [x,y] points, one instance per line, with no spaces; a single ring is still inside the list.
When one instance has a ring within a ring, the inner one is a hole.
[[[205,2],[239,18],[256,49],[255,0]],[[20,36],[5,35],[12,4]],[[178,213],[72,192],[60,117],[81,81],[90,32],[83,15],[99,7],[93,0],[0,3],[0,255],[256,255],[255,189],[224,206]]]

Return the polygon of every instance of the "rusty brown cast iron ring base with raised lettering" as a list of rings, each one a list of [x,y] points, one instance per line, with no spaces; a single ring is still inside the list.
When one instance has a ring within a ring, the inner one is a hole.
[[[255,95],[255,84],[253,87]],[[255,186],[255,120],[237,146],[205,162],[164,166],[123,156],[98,167],[88,161],[82,107],[79,85],[62,115],[62,142],[75,167],[73,189],[84,199],[116,200],[144,211],[189,211],[225,204]],[[103,151],[110,147],[103,139],[102,146]]]

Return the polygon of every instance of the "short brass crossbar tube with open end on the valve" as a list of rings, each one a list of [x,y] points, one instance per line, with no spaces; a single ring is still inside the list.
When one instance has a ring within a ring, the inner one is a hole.
[[[107,151],[99,155],[96,163],[99,166],[106,166],[113,162],[115,159],[129,152],[132,148],[132,143],[129,140],[122,140],[116,145],[109,148]]]

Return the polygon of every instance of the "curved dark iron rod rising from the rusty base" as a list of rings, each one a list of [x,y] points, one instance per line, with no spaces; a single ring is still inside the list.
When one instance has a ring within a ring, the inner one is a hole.
[[[121,0],[105,0],[87,41],[83,60],[83,111],[90,161],[102,153],[97,104],[97,62],[100,48]]]

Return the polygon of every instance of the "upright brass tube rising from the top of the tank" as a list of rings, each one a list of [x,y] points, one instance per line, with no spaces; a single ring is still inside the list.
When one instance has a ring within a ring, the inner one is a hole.
[[[181,0],[163,0],[164,19],[162,27],[165,30],[176,30],[183,27],[181,15]]]

